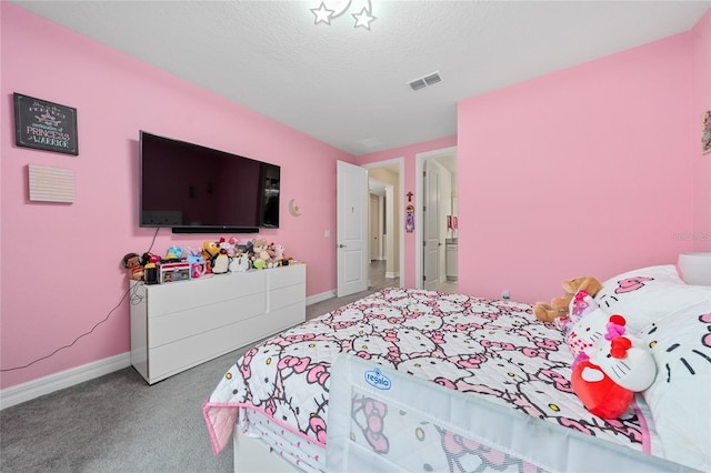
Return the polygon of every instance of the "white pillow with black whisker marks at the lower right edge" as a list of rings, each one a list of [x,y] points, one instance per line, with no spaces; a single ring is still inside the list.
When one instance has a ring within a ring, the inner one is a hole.
[[[640,336],[657,364],[657,378],[642,395],[664,456],[711,471],[711,303],[673,312]]]

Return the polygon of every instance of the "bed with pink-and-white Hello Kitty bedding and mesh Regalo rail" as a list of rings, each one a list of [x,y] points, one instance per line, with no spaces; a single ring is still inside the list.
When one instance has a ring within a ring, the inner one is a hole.
[[[234,433],[301,471],[709,471],[711,289],[660,265],[594,300],[657,366],[618,419],[583,406],[565,329],[529,304],[392,288],[237,360],[203,404],[213,451]]]

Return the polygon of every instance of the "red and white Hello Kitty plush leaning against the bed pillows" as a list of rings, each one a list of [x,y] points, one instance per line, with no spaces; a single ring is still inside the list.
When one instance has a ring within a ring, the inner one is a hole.
[[[602,419],[617,419],[634,393],[654,381],[657,365],[643,342],[625,333],[622,315],[609,315],[584,291],[571,301],[573,321],[565,341],[575,360],[571,384],[583,405]]]

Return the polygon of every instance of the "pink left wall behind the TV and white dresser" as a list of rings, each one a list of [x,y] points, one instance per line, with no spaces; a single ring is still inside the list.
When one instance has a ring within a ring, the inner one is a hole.
[[[120,260],[147,251],[154,233],[138,228],[140,129],[280,164],[281,228],[262,234],[309,264],[308,295],[336,288],[323,231],[336,232],[336,160],[352,157],[11,3],[0,14],[1,368],[46,356],[108,316],[71,349],[2,373],[1,388],[130,350]],[[16,147],[12,92],[77,108],[80,154]],[[28,164],[73,170],[74,203],[29,202]],[[287,211],[292,198],[300,218]],[[152,248],[164,254],[216,236],[162,229]]]

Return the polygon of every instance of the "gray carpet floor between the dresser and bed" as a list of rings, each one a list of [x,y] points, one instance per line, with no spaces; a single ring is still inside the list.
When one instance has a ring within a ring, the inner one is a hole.
[[[202,402],[243,350],[149,386],[127,368],[0,411],[4,472],[231,472]]]

